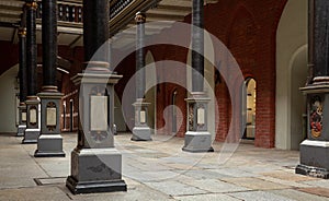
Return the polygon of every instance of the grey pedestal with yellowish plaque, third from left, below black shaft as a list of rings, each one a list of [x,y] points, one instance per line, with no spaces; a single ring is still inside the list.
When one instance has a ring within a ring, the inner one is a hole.
[[[37,95],[41,98],[41,134],[34,156],[65,157],[59,118],[63,94],[57,92],[56,86],[44,86]]]

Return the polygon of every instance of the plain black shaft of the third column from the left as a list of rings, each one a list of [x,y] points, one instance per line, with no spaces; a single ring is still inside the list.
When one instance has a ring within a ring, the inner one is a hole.
[[[43,85],[56,85],[57,66],[57,3],[56,0],[43,0]]]

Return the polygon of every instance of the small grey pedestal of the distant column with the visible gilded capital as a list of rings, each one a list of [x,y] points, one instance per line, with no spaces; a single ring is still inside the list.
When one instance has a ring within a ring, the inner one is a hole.
[[[139,98],[134,103],[135,107],[135,127],[133,128],[134,141],[150,141],[151,130],[148,127],[148,105],[149,103],[144,103],[143,98]]]

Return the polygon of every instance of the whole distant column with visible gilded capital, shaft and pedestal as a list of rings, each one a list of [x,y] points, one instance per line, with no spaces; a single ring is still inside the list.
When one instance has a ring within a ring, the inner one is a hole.
[[[144,52],[144,39],[145,39],[145,22],[146,15],[143,12],[137,12],[135,21],[137,23],[136,35],[136,102],[133,104],[135,107],[135,127],[133,128],[134,141],[149,141],[150,128],[148,127],[148,105],[144,100],[145,94],[145,52]]]

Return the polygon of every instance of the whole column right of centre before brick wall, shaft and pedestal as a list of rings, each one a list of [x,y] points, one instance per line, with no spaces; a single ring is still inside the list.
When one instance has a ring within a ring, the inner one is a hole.
[[[204,93],[204,11],[203,0],[193,0],[192,11],[192,93],[188,102],[188,128],[183,151],[213,152],[207,113],[211,100]]]

